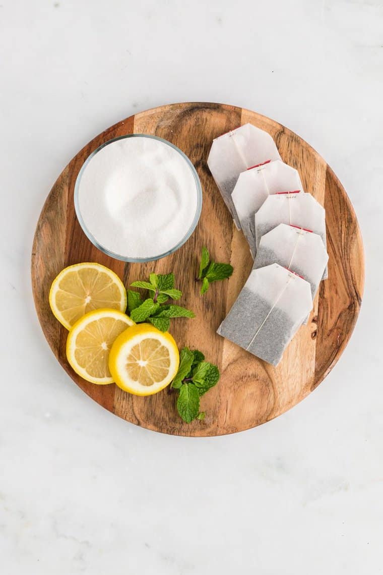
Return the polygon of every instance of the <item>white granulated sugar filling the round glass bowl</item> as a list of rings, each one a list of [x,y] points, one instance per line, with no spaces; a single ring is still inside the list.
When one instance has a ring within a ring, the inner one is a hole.
[[[187,234],[198,192],[187,160],[171,145],[129,137],[89,160],[78,202],[84,225],[100,246],[126,258],[156,258]]]

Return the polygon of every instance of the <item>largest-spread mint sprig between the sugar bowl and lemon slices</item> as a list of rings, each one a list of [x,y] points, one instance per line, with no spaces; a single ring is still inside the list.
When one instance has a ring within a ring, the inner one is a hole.
[[[136,323],[149,321],[160,331],[168,331],[173,317],[194,317],[194,313],[176,304],[166,304],[170,300],[179,300],[182,292],[174,287],[174,274],[150,274],[149,282],[136,281],[130,287],[148,290],[145,300],[139,292],[127,290],[127,309]],[[165,305],[166,304],[166,305]]]

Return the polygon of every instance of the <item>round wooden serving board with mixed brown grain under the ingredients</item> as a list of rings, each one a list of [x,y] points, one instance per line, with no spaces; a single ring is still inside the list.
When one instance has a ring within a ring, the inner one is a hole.
[[[272,367],[216,335],[252,267],[249,248],[238,232],[208,170],[213,138],[250,122],[269,132],[284,162],[297,168],[304,189],[326,208],[328,279],[320,284],[307,325],[292,340],[283,361]],[[95,248],[75,216],[73,189],[84,161],[103,142],[129,133],[160,136],[177,145],[198,171],[203,206],[191,238],[175,254],[146,264],[111,259]],[[202,297],[194,278],[201,248],[231,262],[233,276],[214,283]],[[174,271],[180,304],[193,309],[195,319],[172,320],[179,347],[203,351],[221,372],[218,385],[202,397],[204,421],[184,423],[177,415],[176,393],[170,389],[136,397],[114,384],[88,384],[76,375],[65,356],[67,331],[53,317],[48,294],[53,278],[78,262],[99,262],[113,269],[126,286],[149,273]],[[56,358],[73,381],[100,405],[131,423],[174,435],[230,434],[277,417],[316,388],[338,361],[357,320],[364,281],[361,233],[350,200],[326,162],[295,133],[250,110],[222,104],[172,104],[130,116],[95,137],[60,174],[42,208],[34,236],[32,285],[38,319]]]

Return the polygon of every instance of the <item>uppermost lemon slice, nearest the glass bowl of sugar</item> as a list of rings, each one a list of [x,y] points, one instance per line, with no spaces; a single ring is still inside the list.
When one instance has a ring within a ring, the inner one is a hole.
[[[53,315],[71,329],[93,309],[109,308],[125,312],[126,290],[114,271],[99,263],[77,263],[65,267],[53,280],[49,292]]]

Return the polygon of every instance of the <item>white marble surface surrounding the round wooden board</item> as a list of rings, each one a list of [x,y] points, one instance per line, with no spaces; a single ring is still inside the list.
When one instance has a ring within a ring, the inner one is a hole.
[[[383,573],[383,2],[0,0],[0,557],[7,575]],[[241,434],[103,411],[57,364],[29,262],[45,197],[96,133],[176,101],[251,108],[345,185],[361,316],[326,381]]]

